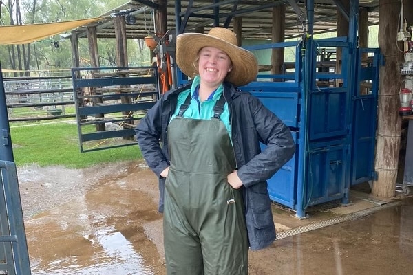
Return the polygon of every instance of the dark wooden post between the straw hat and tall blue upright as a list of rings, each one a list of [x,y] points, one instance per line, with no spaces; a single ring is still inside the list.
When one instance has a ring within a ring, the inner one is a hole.
[[[284,42],[285,17],[286,5],[277,5],[273,8],[273,28],[271,32],[273,43]],[[271,74],[282,74],[283,64],[284,47],[271,50]],[[275,79],[274,81],[282,81],[282,79]]]

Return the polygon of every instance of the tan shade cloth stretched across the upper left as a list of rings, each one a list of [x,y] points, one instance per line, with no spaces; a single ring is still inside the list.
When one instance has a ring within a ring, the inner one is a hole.
[[[87,25],[94,21],[103,19],[95,17],[73,21],[31,24],[31,25],[10,25],[0,27],[0,45],[20,45],[32,43],[55,34],[61,34],[67,30]]]

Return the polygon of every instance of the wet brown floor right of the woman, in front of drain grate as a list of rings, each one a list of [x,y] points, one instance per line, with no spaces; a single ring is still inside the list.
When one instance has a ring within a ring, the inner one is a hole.
[[[412,274],[411,202],[279,239],[268,250],[250,253],[251,274]]]

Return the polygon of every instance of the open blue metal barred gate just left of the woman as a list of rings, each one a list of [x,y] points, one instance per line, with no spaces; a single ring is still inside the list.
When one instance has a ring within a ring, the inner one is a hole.
[[[158,67],[72,69],[81,152],[137,144],[134,128],[160,97]]]

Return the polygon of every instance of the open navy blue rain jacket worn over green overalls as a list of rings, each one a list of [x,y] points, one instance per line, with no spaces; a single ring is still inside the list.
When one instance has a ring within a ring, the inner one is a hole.
[[[190,87],[188,83],[168,91],[136,126],[142,155],[160,178],[160,212],[163,212],[165,189],[165,179],[160,173],[169,166],[167,126],[176,109],[178,94]],[[266,180],[293,157],[295,143],[288,126],[255,96],[224,83],[224,98],[229,104],[237,175],[243,184],[248,241],[251,250],[259,250],[275,241]],[[267,145],[264,151],[260,142]]]

